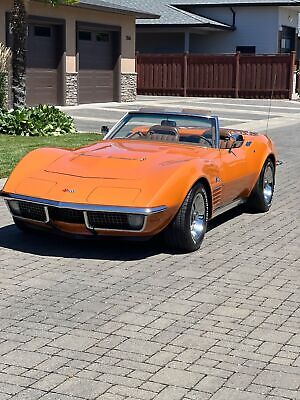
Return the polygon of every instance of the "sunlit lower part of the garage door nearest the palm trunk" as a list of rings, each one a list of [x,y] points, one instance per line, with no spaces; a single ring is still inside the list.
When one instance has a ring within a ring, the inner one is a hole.
[[[30,105],[56,105],[58,98],[57,70],[28,68],[26,74],[27,103]]]

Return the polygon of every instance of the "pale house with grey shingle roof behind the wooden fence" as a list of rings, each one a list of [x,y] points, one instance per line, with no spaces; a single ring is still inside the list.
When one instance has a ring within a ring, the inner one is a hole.
[[[112,2],[161,15],[160,19],[137,20],[136,47],[141,53],[273,54],[297,49],[300,1]]]

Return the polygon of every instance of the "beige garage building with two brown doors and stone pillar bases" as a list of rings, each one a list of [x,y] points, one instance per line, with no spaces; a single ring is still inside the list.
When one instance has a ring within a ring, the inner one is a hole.
[[[7,45],[12,6],[0,1],[0,42]],[[135,20],[153,13],[102,0],[59,7],[31,0],[28,15],[28,104],[135,98]]]

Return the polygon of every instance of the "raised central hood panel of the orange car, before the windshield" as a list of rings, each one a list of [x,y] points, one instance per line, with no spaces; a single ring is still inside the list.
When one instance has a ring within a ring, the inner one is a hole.
[[[136,181],[161,167],[187,162],[196,154],[199,157],[199,148],[195,151],[185,149],[184,145],[114,140],[69,152],[48,165],[45,171],[83,178]]]

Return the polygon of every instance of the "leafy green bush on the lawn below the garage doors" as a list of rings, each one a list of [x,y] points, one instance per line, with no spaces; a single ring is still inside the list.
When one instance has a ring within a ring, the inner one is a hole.
[[[54,106],[0,110],[0,134],[60,136],[75,132],[73,119]]]

